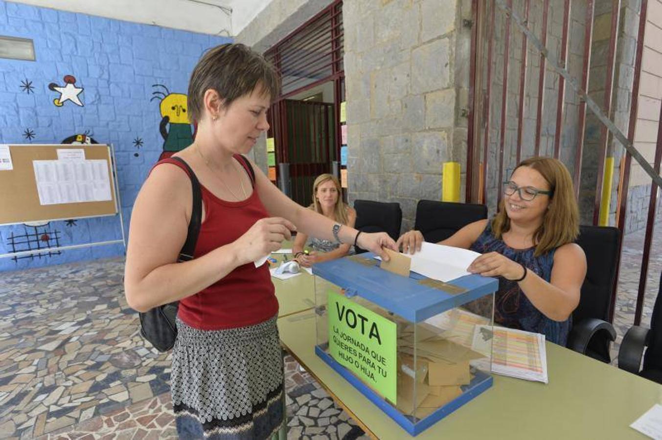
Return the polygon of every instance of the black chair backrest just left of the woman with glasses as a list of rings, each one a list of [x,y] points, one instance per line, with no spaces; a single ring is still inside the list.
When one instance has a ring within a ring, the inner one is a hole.
[[[446,240],[467,224],[485,218],[487,206],[484,204],[419,200],[414,229],[422,232],[426,242],[437,243]]]

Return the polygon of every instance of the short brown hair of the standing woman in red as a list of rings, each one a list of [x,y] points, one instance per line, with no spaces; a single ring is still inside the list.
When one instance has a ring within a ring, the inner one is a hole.
[[[205,92],[213,89],[224,106],[248,95],[261,84],[261,93],[271,99],[279,95],[279,81],[275,69],[260,54],[244,44],[221,44],[203,54],[189,80],[187,96],[189,120],[199,122],[205,107]]]

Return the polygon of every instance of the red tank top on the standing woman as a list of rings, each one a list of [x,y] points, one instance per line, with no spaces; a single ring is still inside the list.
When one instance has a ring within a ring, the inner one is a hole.
[[[246,169],[248,165],[244,158],[240,155],[234,157]],[[187,172],[181,163],[173,159],[164,159],[156,165],[160,163],[172,163]],[[221,200],[203,185],[200,185],[200,189],[205,221],[195,245],[195,258],[234,242],[260,218],[269,216],[256,189],[241,202]],[[221,330],[258,324],[277,312],[278,300],[271,283],[269,266],[263,264],[255,267],[251,262],[237,267],[201,292],[180,300],[178,316],[193,328]]]

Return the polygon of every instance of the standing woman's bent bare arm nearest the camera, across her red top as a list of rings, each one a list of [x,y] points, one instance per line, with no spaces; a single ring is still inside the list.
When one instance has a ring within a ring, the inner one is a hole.
[[[278,249],[294,228],[284,219],[262,219],[236,242],[177,263],[192,204],[190,180],[176,165],[159,165],[140,189],[131,215],[124,268],[126,301],[138,312],[203,290],[236,267]]]

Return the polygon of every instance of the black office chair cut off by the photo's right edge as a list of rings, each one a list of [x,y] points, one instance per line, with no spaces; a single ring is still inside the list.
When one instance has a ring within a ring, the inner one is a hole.
[[[645,347],[648,348],[643,356],[643,368],[639,370]],[[625,333],[618,350],[618,368],[662,384],[662,273],[651,315],[651,328],[632,326]]]

